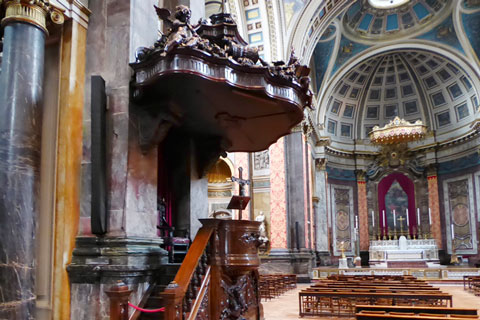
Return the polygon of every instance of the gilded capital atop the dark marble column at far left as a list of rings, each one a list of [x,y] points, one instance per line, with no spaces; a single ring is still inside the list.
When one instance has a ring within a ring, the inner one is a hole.
[[[12,21],[22,21],[48,33],[47,19],[55,24],[63,24],[65,20],[62,10],[50,4],[49,0],[0,0],[0,5],[5,8],[2,26]]]

